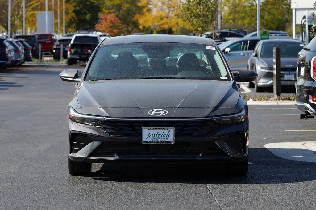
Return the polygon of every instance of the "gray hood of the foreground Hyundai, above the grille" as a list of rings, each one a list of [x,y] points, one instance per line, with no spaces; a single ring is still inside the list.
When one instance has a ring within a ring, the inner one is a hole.
[[[234,81],[102,80],[83,81],[77,90],[76,111],[112,117],[202,117],[229,114],[239,93]],[[148,111],[163,109],[164,116]]]

